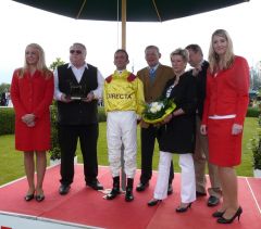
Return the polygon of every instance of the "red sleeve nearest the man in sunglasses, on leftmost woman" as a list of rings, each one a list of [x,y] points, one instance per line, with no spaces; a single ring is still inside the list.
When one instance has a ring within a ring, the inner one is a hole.
[[[51,105],[53,99],[54,92],[53,75],[45,80],[47,80],[45,97],[39,103],[39,105],[33,112],[37,118],[40,118],[46,111],[49,111],[49,106]]]

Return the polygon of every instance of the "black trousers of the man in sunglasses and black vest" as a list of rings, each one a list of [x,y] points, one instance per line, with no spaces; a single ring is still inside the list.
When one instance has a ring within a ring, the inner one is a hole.
[[[97,180],[97,141],[99,135],[98,124],[90,125],[59,125],[58,137],[61,148],[61,180],[63,185],[70,185],[74,178],[74,155],[79,139],[84,160],[85,181]]]

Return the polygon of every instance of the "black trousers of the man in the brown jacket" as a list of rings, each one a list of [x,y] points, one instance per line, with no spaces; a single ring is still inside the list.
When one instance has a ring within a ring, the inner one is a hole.
[[[150,125],[148,128],[141,128],[141,176],[140,182],[146,183],[152,176],[152,157],[154,152],[156,139],[159,138],[159,130],[157,127]],[[173,162],[170,168],[169,183],[174,179]]]

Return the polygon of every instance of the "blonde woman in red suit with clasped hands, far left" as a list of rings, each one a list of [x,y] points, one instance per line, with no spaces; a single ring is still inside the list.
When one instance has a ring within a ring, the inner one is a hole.
[[[24,67],[14,71],[11,99],[15,111],[15,149],[24,151],[28,191],[25,201],[45,200],[42,182],[46,151],[50,149],[50,112],[53,98],[53,75],[47,68],[45,52],[37,43],[25,49]],[[35,161],[37,183],[35,185]]]

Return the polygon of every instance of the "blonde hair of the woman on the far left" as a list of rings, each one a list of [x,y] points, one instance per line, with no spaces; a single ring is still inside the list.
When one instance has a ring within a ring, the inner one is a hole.
[[[36,69],[40,71],[46,78],[50,78],[52,76],[52,73],[51,73],[51,71],[48,69],[48,67],[46,65],[46,58],[45,58],[44,49],[38,43],[29,43],[28,46],[26,46],[25,50],[29,47],[33,49],[36,49],[38,52],[39,60],[36,64]],[[25,58],[24,66],[22,68],[20,68],[18,76],[24,77],[26,69],[28,69],[28,64],[27,64],[26,58]]]

